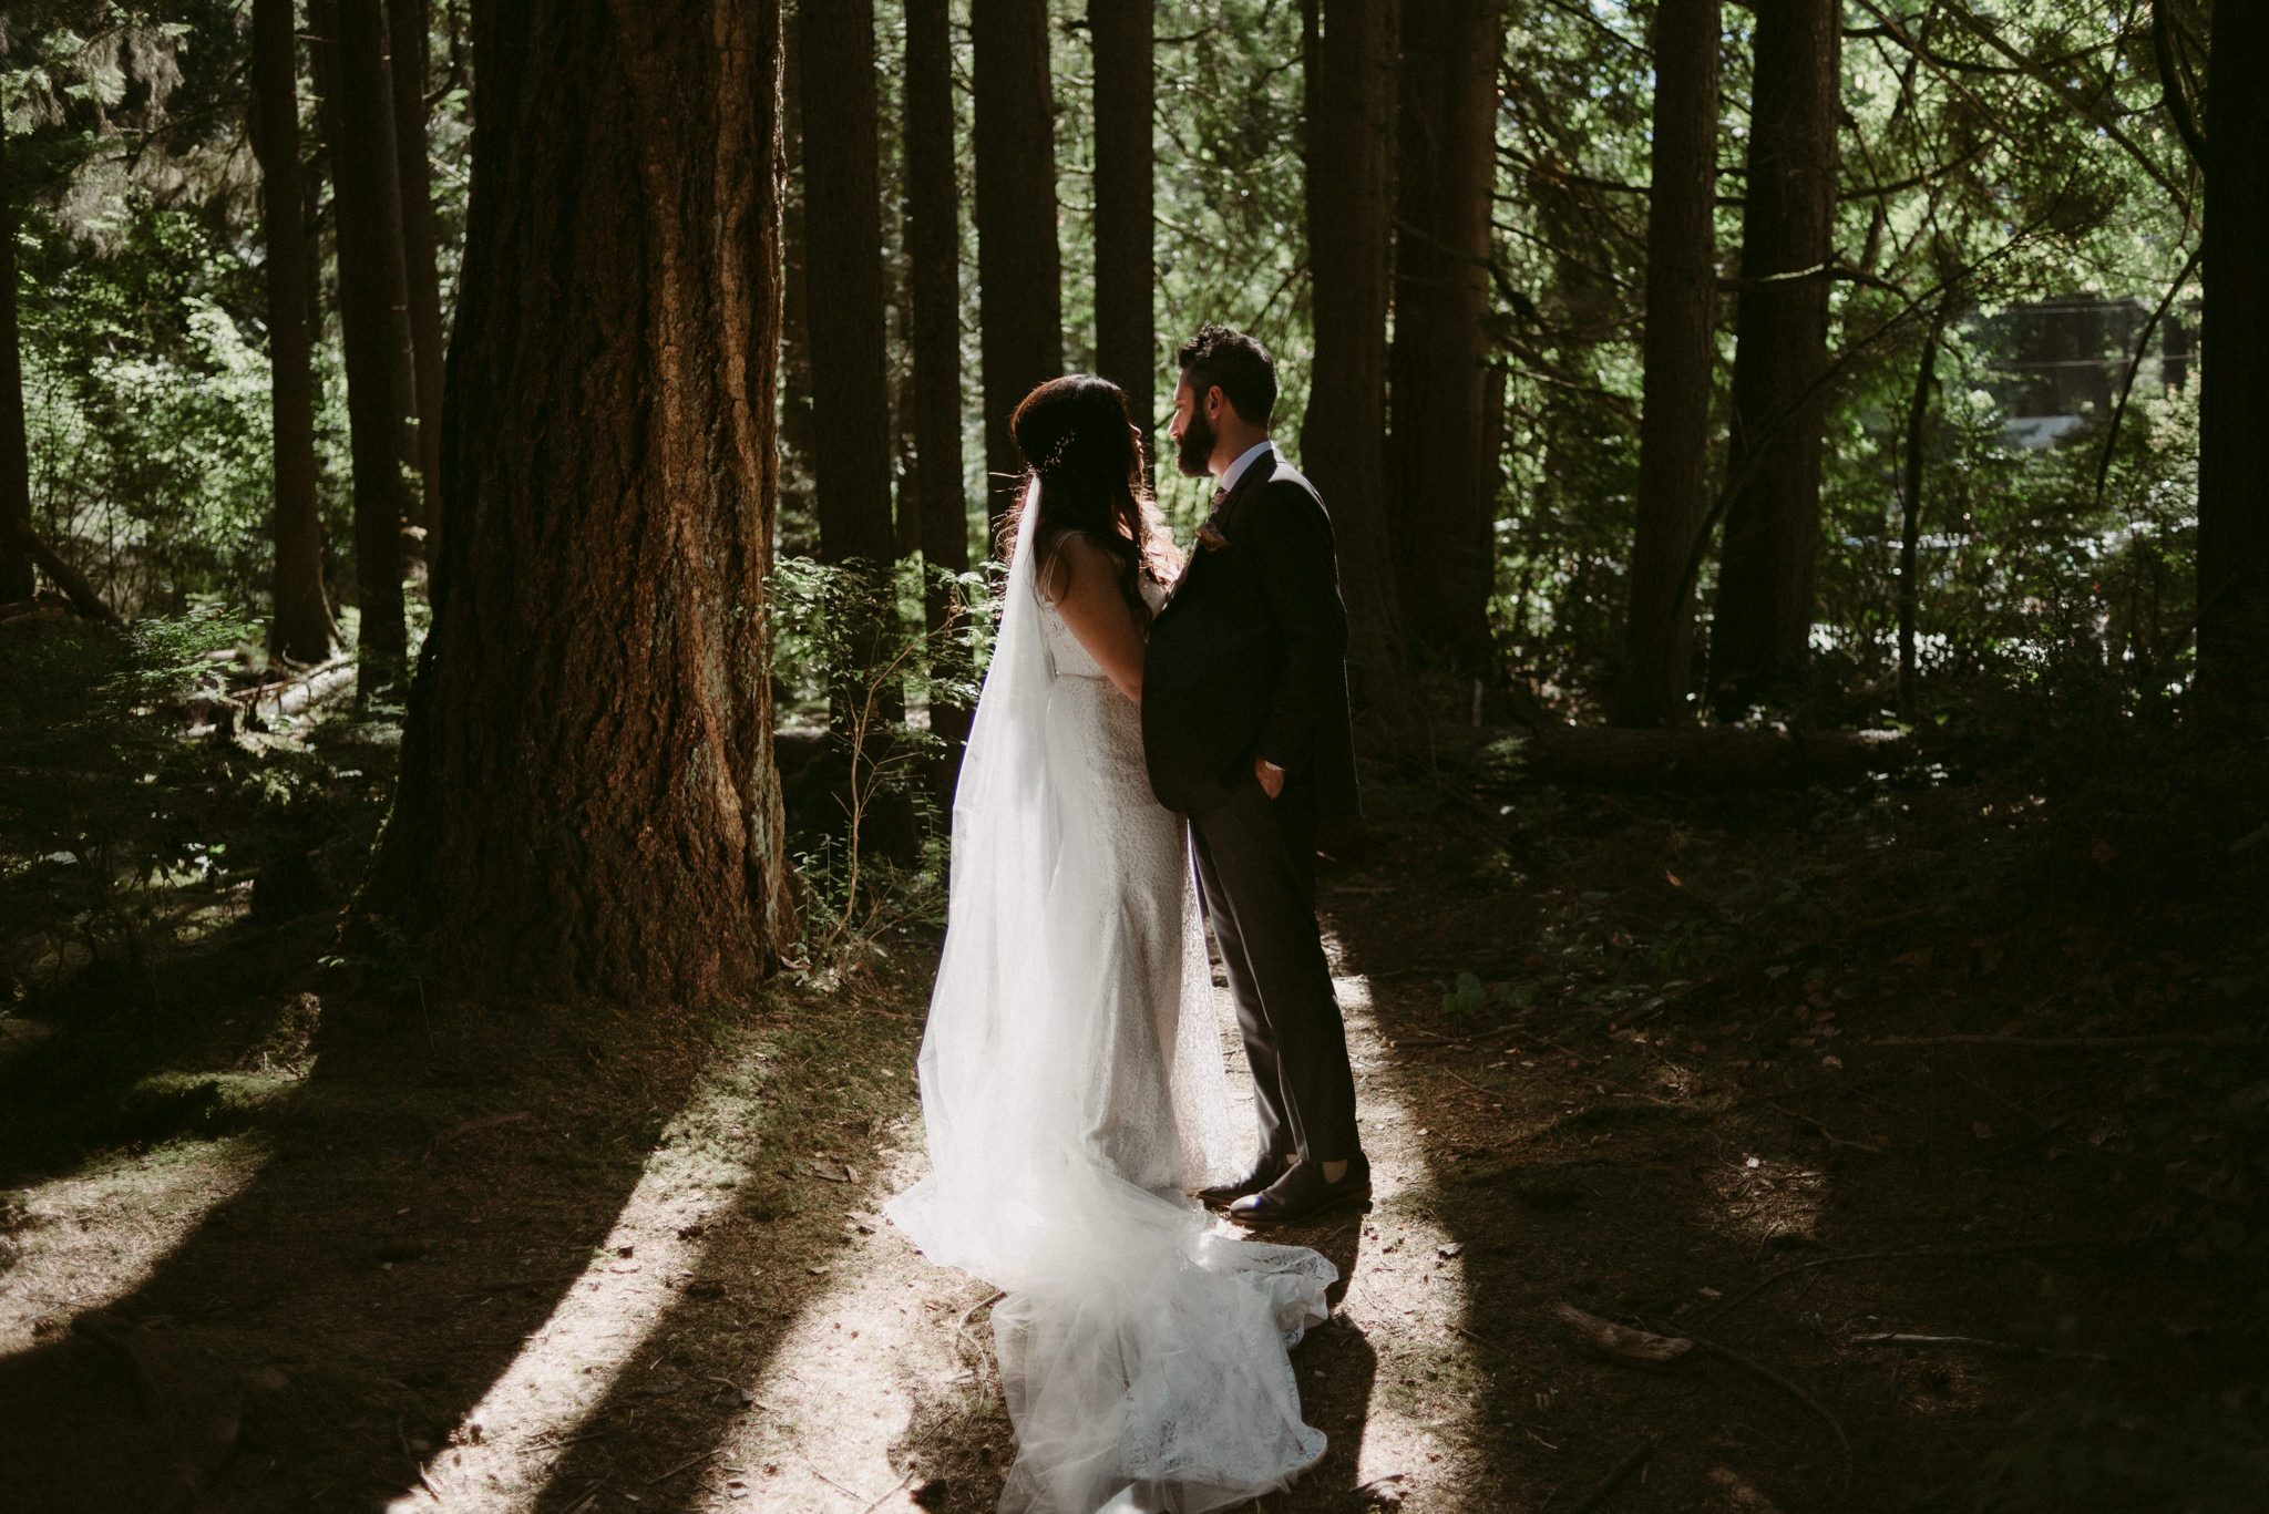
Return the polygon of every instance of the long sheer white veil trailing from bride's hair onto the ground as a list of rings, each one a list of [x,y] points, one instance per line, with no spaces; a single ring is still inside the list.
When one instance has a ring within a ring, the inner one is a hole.
[[[1037,488],[1037,486],[1035,486]],[[1030,506],[1030,495],[1028,495]],[[1212,1235],[1180,1192],[1121,1178],[1096,1101],[1094,1003],[1125,881],[1094,774],[1066,772],[1035,592],[1035,508],[953,797],[946,949],[921,1042],[930,1176],[885,1212],[933,1260],[1010,1296],[994,1335],[1019,1457],[1003,1509],[1198,1514],[1323,1455],[1287,1348],[1327,1317],[1314,1251]],[[1082,788],[1085,785],[1085,788]],[[1182,1003],[1162,1044],[1189,1185],[1230,1169],[1212,974],[1193,897]]]

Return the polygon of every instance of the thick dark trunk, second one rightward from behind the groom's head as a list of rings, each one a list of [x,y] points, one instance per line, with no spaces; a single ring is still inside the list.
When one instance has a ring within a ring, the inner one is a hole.
[[[1414,656],[1488,670],[1495,588],[1486,420],[1488,211],[1504,16],[1484,0],[1402,0],[1393,493],[1395,581]]]

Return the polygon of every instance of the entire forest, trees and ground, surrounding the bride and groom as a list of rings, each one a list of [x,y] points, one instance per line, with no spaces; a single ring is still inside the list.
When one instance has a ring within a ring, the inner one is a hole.
[[[2258,1507],[2264,77],[2251,0],[9,5],[0,1487],[994,1507],[871,1210],[1005,420],[1162,438],[1218,320],[1389,1174],[1268,1507]]]

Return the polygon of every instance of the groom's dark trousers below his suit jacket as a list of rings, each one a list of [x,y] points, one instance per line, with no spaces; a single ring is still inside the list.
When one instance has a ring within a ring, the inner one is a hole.
[[[1307,1162],[1361,1155],[1348,1031],[1316,924],[1314,788],[1291,776],[1271,799],[1246,779],[1189,831],[1252,1067],[1262,1151]]]

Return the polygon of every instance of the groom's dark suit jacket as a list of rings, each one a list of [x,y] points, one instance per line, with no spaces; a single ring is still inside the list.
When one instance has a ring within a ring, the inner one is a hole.
[[[1144,656],[1141,735],[1150,788],[1205,815],[1252,758],[1311,785],[1318,815],[1352,815],[1348,611],[1332,518],[1282,454],[1252,461],[1209,522],[1225,545],[1191,542]]]

